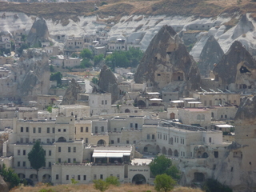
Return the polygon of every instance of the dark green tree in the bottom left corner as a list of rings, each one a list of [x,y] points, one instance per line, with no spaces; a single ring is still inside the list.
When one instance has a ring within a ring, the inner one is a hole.
[[[0,174],[5,182],[10,182],[10,188],[14,186],[18,186],[20,183],[20,178],[18,178],[18,174],[14,173],[12,168],[6,168],[6,164],[2,165],[2,170],[0,170]]]

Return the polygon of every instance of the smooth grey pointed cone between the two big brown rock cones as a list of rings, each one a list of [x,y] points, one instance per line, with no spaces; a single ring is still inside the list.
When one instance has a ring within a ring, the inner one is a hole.
[[[206,45],[202,48],[200,54],[200,61],[198,62],[198,68],[202,77],[209,77],[210,70],[214,69],[214,64],[218,63],[224,52],[219,46],[214,36],[210,35],[207,39]]]

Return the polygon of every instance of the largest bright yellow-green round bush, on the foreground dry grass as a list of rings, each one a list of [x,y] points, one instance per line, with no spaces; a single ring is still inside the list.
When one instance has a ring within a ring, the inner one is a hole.
[[[158,174],[154,179],[154,189],[157,191],[170,191],[174,189],[176,181],[167,174]]]

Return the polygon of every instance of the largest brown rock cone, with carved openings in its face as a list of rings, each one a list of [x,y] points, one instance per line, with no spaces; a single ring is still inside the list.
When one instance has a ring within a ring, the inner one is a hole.
[[[201,78],[196,62],[178,34],[170,26],[162,26],[150,42],[134,81],[146,81],[154,91],[169,90],[187,95],[190,90],[199,88]]]

